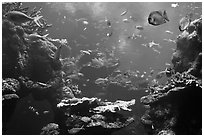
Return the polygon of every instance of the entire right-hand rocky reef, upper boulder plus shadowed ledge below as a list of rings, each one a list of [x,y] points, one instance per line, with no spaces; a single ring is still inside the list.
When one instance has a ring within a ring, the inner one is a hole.
[[[202,19],[196,19],[177,38],[173,74],[164,86],[149,87],[141,98],[147,110],[141,117],[149,134],[202,134]]]

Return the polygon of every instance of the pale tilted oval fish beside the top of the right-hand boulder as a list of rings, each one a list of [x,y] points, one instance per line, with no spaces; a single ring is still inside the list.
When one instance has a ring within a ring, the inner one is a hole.
[[[188,28],[188,26],[191,24],[193,13],[187,14],[185,17],[181,18],[179,21],[179,30],[184,31]]]

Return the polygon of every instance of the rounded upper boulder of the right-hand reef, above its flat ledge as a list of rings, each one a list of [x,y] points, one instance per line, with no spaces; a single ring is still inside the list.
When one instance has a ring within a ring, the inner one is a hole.
[[[189,68],[195,67],[193,64],[201,63],[199,56],[202,56],[202,18],[191,22],[188,28],[178,36],[176,45],[176,51],[172,56],[172,63],[176,72],[187,71]],[[201,73],[195,75],[201,76]]]

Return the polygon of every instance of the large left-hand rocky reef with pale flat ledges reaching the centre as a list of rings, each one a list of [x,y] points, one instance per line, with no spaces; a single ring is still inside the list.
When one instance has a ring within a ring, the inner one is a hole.
[[[90,56],[82,52],[76,58],[60,59],[58,48],[67,46],[67,42],[44,34],[51,26],[45,19],[41,18],[38,26],[33,21],[17,24],[5,16],[9,11],[19,11],[36,17],[41,16],[41,9],[28,12],[28,7],[14,2],[3,3],[2,10],[3,134],[9,134],[7,125],[16,105],[21,104],[18,102],[30,95],[35,101],[46,100],[54,113],[53,122],[43,125],[39,134],[111,134],[134,121],[118,113],[131,111],[127,107],[134,105],[134,100],[111,103],[82,97],[75,82],[101,77],[90,76],[90,71],[102,71],[104,77],[110,75],[118,67],[118,60],[108,59],[98,51],[90,51]],[[96,55],[92,57],[92,53]],[[42,115],[32,106],[28,105],[28,110],[35,112],[36,120]]]

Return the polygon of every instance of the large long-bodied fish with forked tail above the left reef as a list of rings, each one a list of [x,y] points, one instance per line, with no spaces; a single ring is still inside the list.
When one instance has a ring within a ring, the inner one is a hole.
[[[43,16],[37,16],[37,17],[32,18],[20,11],[10,11],[5,16],[7,17],[9,21],[12,21],[17,24],[26,23],[28,21],[34,21],[35,24],[38,25],[39,27],[42,26],[39,19],[41,19]]]

